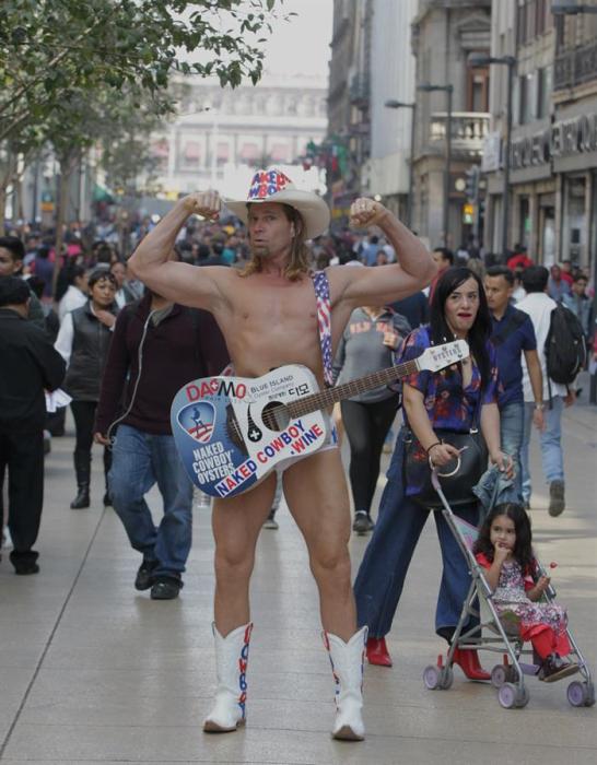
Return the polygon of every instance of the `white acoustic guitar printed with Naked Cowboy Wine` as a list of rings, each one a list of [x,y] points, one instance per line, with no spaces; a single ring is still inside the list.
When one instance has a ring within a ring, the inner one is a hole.
[[[257,378],[204,377],[176,393],[172,432],[191,481],[211,496],[236,496],[273,468],[332,443],[326,411],[331,404],[422,369],[438,372],[468,355],[466,341],[456,340],[326,390],[319,390],[315,375],[298,364]]]

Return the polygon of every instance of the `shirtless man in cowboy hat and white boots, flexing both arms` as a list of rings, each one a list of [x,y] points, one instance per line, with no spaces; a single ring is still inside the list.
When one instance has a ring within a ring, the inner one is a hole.
[[[225,267],[195,268],[168,260],[176,235],[191,214],[213,220],[215,191],[192,193],[139,245],[129,260],[137,278],[164,297],[207,308],[224,334],[235,374],[259,377],[283,364],[304,364],[324,387],[314,283],[304,243],[321,234],[329,211],[317,195],[296,189],[282,173],[259,172],[249,196],[226,201],[248,224],[251,260],[244,272]],[[326,269],[331,302],[331,356],[356,306],[384,305],[420,291],[436,272],[424,246],[388,210],[371,199],[351,208],[355,227],[377,225],[398,262],[376,268]],[[328,354],[326,354],[328,355]],[[362,657],[366,627],[356,632],[348,552],[350,503],[340,452],[324,447],[291,464],[284,496],[301,529],[319,591],[324,642],[337,683],[332,735],[362,740]],[[255,546],[269,513],[276,474],[242,496],[215,499],[214,624],[218,690],[206,731],[232,731],[245,721],[249,579]]]

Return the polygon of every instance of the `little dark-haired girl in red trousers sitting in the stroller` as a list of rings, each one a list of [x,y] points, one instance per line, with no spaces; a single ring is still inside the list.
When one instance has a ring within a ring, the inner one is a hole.
[[[520,637],[530,640],[541,658],[539,680],[551,683],[578,671],[565,661],[571,647],[567,616],[555,603],[537,603],[549,586],[549,577],[532,579],[536,562],[531,550],[529,518],[520,505],[497,505],[485,518],[475,543],[475,556],[485,568],[493,590],[493,604],[503,621],[516,619]]]

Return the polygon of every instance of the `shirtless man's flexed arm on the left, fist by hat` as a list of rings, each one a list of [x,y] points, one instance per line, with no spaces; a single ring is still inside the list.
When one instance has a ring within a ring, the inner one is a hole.
[[[221,297],[214,272],[219,267],[201,269],[172,260],[176,236],[189,215],[218,217],[216,191],[192,193],[178,200],[140,243],[128,261],[131,272],[150,290],[168,301],[199,308],[212,308]],[[214,278],[215,276],[215,278]]]

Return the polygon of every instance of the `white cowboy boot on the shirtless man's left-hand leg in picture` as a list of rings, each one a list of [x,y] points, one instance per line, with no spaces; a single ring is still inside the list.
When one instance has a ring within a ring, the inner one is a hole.
[[[227,733],[245,725],[247,699],[247,663],[253,623],[233,629],[222,637],[212,624],[215,639],[218,688],[213,709],[203,722],[207,733]]]

